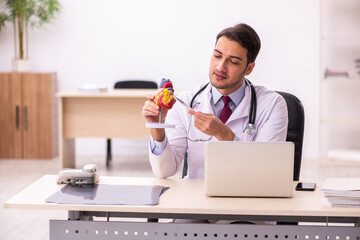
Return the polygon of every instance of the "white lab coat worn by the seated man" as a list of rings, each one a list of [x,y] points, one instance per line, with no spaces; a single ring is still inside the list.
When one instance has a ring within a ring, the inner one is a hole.
[[[269,91],[262,86],[254,86],[257,98],[257,110],[255,120],[255,134],[245,133],[249,121],[249,109],[251,102],[251,90],[247,85],[245,96],[237,108],[233,111],[226,125],[235,133],[240,141],[276,142],[285,141],[288,125],[288,112],[284,98],[274,91]],[[198,87],[191,91],[182,92],[180,99],[190,105],[190,101]],[[202,113],[214,114],[211,106],[211,84],[200,93],[193,103],[193,109]],[[189,129],[189,123],[191,126]],[[166,129],[166,148],[160,155],[149,152],[150,164],[154,174],[160,178],[173,176],[179,170],[188,152],[188,178],[204,178],[204,142],[192,142],[191,139],[209,139],[210,136],[202,133],[194,127],[194,118],[187,113],[187,109],[181,103],[175,103],[167,114],[166,122],[174,123],[175,128]],[[210,141],[218,141],[212,137]],[[182,169],[181,169],[182,170]]]

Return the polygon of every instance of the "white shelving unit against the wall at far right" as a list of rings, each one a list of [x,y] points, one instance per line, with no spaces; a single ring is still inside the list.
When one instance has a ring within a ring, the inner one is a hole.
[[[360,164],[359,9],[359,0],[320,1],[319,159],[329,163]]]

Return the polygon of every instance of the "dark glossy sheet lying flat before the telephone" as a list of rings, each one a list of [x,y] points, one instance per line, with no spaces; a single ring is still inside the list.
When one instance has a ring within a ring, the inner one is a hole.
[[[159,185],[65,185],[48,203],[85,205],[157,205],[165,188]]]

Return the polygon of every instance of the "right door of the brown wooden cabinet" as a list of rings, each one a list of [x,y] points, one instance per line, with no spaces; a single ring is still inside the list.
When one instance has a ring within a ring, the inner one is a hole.
[[[26,73],[23,84],[23,157],[52,158],[53,74]]]

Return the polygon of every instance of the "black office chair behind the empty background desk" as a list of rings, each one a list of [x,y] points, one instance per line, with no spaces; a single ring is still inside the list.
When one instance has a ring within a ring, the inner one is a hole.
[[[157,89],[158,84],[154,81],[145,81],[145,80],[127,80],[127,81],[118,81],[115,83],[114,88],[145,88],[145,89]],[[106,166],[109,166],[110,161],[112,160],[111,153],[111,139],[107,139],[106,144]]]

